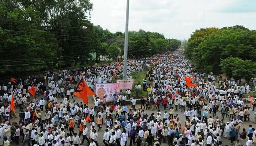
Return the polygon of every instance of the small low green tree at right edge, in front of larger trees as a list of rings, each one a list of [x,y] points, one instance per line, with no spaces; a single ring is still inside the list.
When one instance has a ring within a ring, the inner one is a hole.
[[[222,72],[227,75],[228,78],[240,80],[245,78],[246,81],[250,81],[256,73],[256,63],[252,60],[242,60],[238,57],[229,57],[221,61]]]

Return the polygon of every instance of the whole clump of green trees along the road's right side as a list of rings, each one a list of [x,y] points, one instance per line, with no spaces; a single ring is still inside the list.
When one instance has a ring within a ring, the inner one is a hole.
[[[244,62],[253,64],[256,61],[255,49],[256,32],[243,26],[233,26],[196,30],[188,40],[185,54],[191,59],[195,69],[201,72],[225,73],[228,77],[244,77],[248,80],[254,73],[253,69],[244,74],[245,72],[237,72],[232,66],[244,65]],[[227,69],[225,63],[232,61],[235,61],[236,65],[229,64],[230,67]]]

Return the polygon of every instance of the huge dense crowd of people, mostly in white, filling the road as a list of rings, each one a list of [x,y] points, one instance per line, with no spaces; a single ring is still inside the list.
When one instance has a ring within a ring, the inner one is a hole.
[[[1,82],[0,143],[78,146],[86,140],[90,146],[222,146],[223,138],[229,138],[230,145],[256,145],[255,128],[240,129],[255,108],[254,103],[245,105],[242,100],[247,88],[197,73],[180,51],[129,60],[127,78],[144,66],[151,69],[149,80],[143,82],[148,96],[138,99],[127,91],[114,95],[108,105],[105,97],[97,96],[93,106],[78,103],[74,88],[81,78],[91,90],[95,78],[100,83],[113,82],[122,75],[123,62],[48,72],[41,79],[21,78],[11,84]],[[185,77],[194,78],[197,87],[186,86]],[[28,92],[32,85],[36,91],[33,99]],[[10,105],[12,93],[16,110]],[[182,115],[177,114],[180,112]],[[253,115],[256,117],[256,112]],[[185,121],[181,121],[183,116]],[[104,131],[102,137],[99,131]]]

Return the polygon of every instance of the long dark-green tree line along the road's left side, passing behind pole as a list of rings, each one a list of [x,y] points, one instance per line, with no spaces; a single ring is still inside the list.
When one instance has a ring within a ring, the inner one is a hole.
[[[0,3],[0,74],[44,71],[83,65],[90,53],[117,59],[124,32],[110,32],[90,22],[90,0]],[[128,57],[177,49],[179,41],[158,32],[129,31]],[[169,47],[170,46],[170,47]]]

